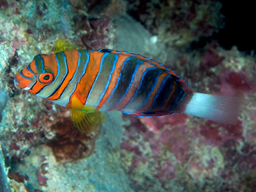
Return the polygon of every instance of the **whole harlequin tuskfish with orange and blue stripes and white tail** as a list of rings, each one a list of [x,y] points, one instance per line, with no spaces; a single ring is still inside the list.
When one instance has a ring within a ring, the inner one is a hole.
[[[72,109],[75,126],[90,131],[102,111],[152,117],[188,113],[234,124],[248,102],[240,97],[193,93],[174,71],[125,51],[66,50],[37,55],[15,76],[15,84]]]

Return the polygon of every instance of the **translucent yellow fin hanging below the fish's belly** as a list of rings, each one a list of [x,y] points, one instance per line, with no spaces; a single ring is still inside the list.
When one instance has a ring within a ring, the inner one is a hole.
[[[71,101],[72,119],[81,132],[90,132],[104,122],[104,114],[91,106],[84,106],[77,97]]]

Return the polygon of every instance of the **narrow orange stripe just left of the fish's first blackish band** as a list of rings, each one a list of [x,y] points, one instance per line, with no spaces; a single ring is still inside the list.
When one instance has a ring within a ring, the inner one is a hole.
[[[107,102],[107,99],[111,95],[113,89],[116,87],[118,77],[121,73],[122,65],[123,65],[125,59],[127,59],[128,57],[129,56],[127,56],[127,55],[118,55],[118,61],[116,61],[116,68],[113,71],[113,74],[111,75],[111,80],[110,80],[109,86],[107,87],[107,90],[106,90],[104,96],[102,97],[100,104],[98,104],[98,107],[96,108],[96,110],[100,109],[104,105],[104,103]]]

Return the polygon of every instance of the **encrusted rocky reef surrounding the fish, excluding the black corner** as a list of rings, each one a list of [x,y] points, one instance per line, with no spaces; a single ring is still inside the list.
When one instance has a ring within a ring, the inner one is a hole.
[[[218,41],[221,8],[203,0],[0,0],[0,191],[256,191],[255,54]],[[250,104],[235,125],[111,111],[80,133],[68,109],[13,84],[62,38],[145,55],[196,92]]]

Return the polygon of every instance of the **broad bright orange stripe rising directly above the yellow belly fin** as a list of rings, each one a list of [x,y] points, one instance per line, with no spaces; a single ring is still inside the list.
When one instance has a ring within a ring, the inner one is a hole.
[[[93,86],[93,82],[98,75],[100,70],[100,61],[103,55],[104,52],[90,52],[90,60],[86,67],[86,73],[80,79],[80,83],[77,84],[77,88],[74,91],[75,95],[77,95],[83,105],[85,104],[89,91],[91,90],[91,86]]]

